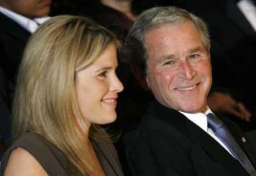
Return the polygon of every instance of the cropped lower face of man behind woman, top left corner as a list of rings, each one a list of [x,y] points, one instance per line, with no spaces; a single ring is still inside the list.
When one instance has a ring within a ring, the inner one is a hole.
[[[44,17],[51,10],[51,0],[3,0],[1,6],[25,17]]]

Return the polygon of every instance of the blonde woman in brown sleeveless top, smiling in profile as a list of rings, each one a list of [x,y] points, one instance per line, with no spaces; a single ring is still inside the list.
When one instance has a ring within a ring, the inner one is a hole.
[[[123,90],[116,36],[93,20],[59,16],[29,40],[13,102],[13,145],[1,175],[123,175],[108,135]],[[103,139],[103,141],[102,141]]]

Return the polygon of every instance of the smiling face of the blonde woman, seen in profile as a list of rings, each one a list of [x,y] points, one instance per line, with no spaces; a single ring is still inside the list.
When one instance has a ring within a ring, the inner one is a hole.
[[[93,124],[109,124],[116,120],[116,100],[124,89],[116,76],[116,47],[109,45],[92,65],[76,73],[76,93],[82,130]]]

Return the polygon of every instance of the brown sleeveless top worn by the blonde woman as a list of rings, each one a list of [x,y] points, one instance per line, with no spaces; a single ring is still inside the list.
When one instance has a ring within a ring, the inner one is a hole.
[[[106,176],[123,176],[124,174],[113,144],[95,140],[92,143]],[[49,176],[68,176],[70,175],[68,172],[72,171],[72,164],[58,147],[47,141],[40,134],[31,132],[20,136],[8,148],[1,161],[1,176],[4,174],[12,150],[15,150],[17,147],[24,148],[35,157]]]

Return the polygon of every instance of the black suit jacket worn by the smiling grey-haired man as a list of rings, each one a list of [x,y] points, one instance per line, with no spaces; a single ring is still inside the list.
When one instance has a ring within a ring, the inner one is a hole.
[[[236,125],[223,119],[256,166],[255,151]],[[152,102],[140,127],[124,137],[131,175],[216,176],[248,173],[225,148],[178,111]]]

